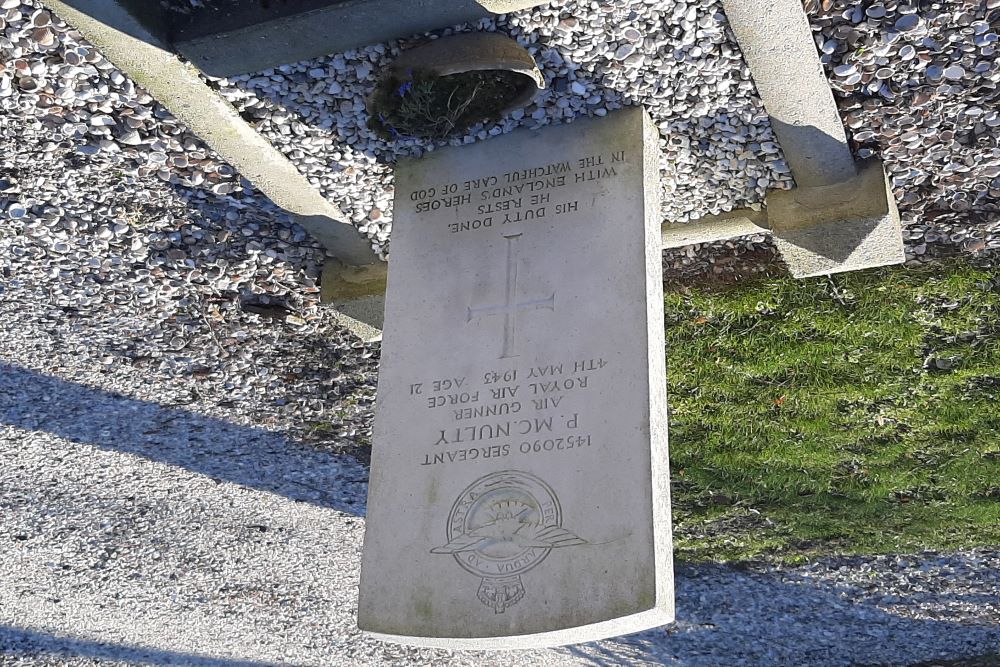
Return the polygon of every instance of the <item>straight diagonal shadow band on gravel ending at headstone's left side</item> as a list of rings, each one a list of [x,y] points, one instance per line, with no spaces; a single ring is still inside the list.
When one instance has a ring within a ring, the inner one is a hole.
[[[0,424],[185,468],[218,481],[362,516],[368,471],[353,458],[42,375],[0,361]]]

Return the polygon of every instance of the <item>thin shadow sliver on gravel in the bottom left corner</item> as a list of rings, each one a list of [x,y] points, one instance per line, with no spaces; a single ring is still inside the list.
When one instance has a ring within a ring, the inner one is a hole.
[[[276,667],[273,662],[226,660],[194,653],[163,651],[145,646],[102,644],[88,639],[60,637],[25,628],[0,625],[0,657],[87,658],[129,662],[137,665],[185,665],[186,667]]]

